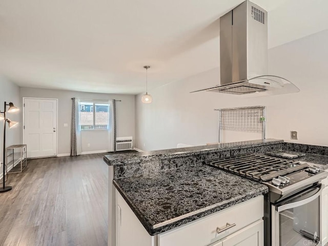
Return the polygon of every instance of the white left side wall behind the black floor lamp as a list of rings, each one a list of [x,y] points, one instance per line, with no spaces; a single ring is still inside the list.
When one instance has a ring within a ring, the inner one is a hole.
[[[19,87],[12,83],[10,80],[0,75],[0,111],[4,111],[4,101],[9,104],[12,102],[16,107],[20,108],[20,99],[19,99]],[[21,109],[21,108],[20,108]],[[8,106],[7,106],[8,110]],[[20,126],[20,118],[22,115],[22,110],[15,113],[7,113],[6,117],[18,121]],[[11,145],[21,144],[21,133],[19,125],[9,129],[8,124],[6,126],[6,147]],[[4,124],[3,121],[0,121],[0,161],[3,162],[3,141],[4,141]],[[0,178],[2,177],[3,167],[0,165]]]

